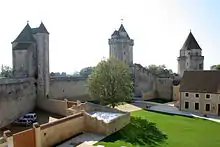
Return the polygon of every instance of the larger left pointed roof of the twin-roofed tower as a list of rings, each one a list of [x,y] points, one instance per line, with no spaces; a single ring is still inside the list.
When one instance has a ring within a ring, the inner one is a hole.
[[[28,23],[13,42],[35,42],[31,27]]]

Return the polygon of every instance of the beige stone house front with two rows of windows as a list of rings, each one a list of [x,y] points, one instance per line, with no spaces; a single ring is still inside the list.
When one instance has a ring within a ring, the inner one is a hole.
[[[183,111],[220,116],[220,94],[213,93],[180,93]]]

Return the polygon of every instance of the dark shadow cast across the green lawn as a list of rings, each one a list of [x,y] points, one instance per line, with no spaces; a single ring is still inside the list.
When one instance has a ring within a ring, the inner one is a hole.
[[[155,123],[141,117],[131,117],[131,122],[122,130],[106,137],[101,142],[121,140],[137,146],[157,146],[164,143],[167,135],[161,132]]]

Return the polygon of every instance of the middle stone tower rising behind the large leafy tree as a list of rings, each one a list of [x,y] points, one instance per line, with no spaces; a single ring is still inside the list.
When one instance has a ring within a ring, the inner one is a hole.
[[[133,46],[134,41],[130,39],[123,24],[115,30],[108,40],[109,56],[124,61],[129,66],[133,65]]]

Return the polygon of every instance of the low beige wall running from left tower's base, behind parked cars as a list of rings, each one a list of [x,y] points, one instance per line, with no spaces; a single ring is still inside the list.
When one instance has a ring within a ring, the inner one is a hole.
[[[66,116],[67,110],[67,101],[66,100],[55,100],[55,99],[46,99],[38,98],[37,107],[54,114]]]

